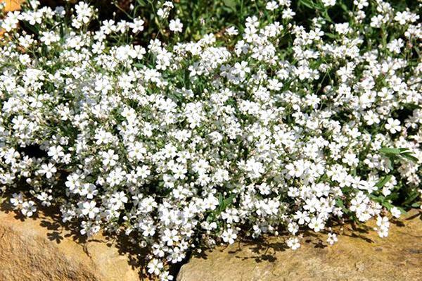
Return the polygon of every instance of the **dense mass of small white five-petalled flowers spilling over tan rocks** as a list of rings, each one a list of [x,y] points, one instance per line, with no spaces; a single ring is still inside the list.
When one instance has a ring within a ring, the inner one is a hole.
[[[303,27],[268,1],[279,21],[181,42],[166,2],[174,39],[142,45],[145,19],[89,27],[89,4],[30,1],[0,20],[0,189],[25,216],[56,204],[82,235],[124,232],[161,280],[240,235],[298,249],[302,230],[333,244],[333,222],[375,218],[385,237],[397,196],[421,195],[422,26],[368,5]]]

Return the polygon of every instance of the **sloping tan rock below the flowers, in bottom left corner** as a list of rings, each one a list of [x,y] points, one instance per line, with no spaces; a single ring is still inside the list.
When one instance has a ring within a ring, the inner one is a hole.
[[[102,235],[84,241],[54,213],[24,219],[2,204],[0,280],[141,280],[136,254],[124,242]]]

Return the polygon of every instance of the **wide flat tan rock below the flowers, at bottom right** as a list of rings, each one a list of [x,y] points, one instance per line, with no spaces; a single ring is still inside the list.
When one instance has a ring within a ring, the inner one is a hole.
[[[283,237],[219,246],[193,256],[177,280],[422,280],[420,212],[391,222],[385,238],[369,227],[344,227],[333,246],[326,246],[326,235],[309,232],[296,251],[286,248]]]

